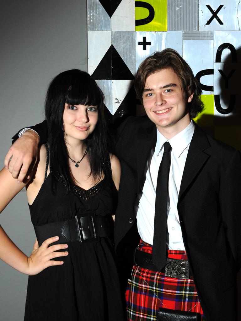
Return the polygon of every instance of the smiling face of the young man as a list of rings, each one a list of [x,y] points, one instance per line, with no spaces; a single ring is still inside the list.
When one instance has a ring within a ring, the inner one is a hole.
[[[184,96],[180,80],[172,69],[162,69],[147,77],[142,95],[145,111],[168,139],[190,124],[187,103],[193,94],[187,99]]]

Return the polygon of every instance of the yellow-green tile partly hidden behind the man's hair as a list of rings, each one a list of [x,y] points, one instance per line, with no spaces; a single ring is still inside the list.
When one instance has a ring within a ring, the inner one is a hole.
[[[204,110],[193,120],[201,127],[214,126],[214,95],[201,95]]]

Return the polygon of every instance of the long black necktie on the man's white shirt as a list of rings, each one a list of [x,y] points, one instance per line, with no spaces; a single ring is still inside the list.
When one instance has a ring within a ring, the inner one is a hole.
[[[162,161],[158,170],[156,183],[156,205],[154,220],[154,237],[152,260],[159,271],[166,265],[166,207],[168,194],[168,178],[172,147],[169,142],[164,143]]]

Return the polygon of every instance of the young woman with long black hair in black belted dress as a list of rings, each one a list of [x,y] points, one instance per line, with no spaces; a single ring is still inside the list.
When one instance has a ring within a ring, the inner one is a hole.
[[[59,74],[47,92],[49,143],[34,177],[16,184],[0,172],[0,210],[26,186],[38,240],[27,257],[0,229],[0,258],[30,275],[24,320],[123,320],[110,239],[120,163],[108,152],[103,107],[89,74]]]

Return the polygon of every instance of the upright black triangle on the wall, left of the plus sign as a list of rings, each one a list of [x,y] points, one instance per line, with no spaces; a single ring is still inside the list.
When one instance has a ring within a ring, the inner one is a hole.
[[[133,74],[113,45],[106,51],[101,62],[92,74],[94,79],[132,80]]]

